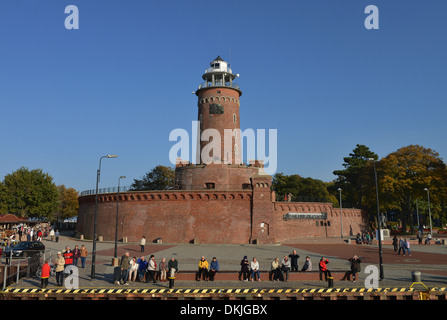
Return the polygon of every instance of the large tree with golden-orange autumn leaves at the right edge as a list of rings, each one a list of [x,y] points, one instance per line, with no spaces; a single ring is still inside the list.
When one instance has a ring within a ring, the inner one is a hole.
[[[381,159],[377,169],[381,206],[400,213],[404,232],[408,224],[414,231],[414,202],[425,201],[425,188],[430,190],[432,203],[437,203],[432,213],[435,217],[442,215],[447,175],[446,165],[436,151],[418,145],[403,147]]]

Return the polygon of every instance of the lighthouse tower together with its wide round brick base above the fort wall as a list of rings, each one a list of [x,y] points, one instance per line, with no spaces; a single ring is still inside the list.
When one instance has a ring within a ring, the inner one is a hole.
[[[262,165],[242,163],[239,106],[242,91],[228,62],[217,57],[205,70],[198,98],[200,141],[196,163],[178,161],[174,189],[251,190]],[[200,160],[198,160],[200,159]]]

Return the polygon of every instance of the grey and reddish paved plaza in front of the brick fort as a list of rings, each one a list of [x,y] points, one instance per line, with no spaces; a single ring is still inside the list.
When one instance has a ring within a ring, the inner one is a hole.
[[[89,251],[89,257],[85,268],[79,268],[80,288],[114,288],[118,285],[113,283],[112,257],[114,255],[114,242],[98,242],[96,256],[96,277],[91,279],[91,252],[92,242],[79,240],[68,236],[61,236],[59,242],[49,239],[42,241],[47,250],[47,257],[54,259],[57,251],[62,251],[66,246],[84,244]],[[204,245],[204,244],[149,244],[145,246],[144,255],[147,258],[154,254],[156,261],[161,258],[175,257],[179,261],[180,272],[182,270],[196,270],[200,257],[205,256],[208,261],[217,257],[220,269],[238,271],[239,262],[243,256],[249,259],[257,257],[261,270],[268,270],[273,258],[282,258],[296,249],[300,255],[300,265],[306,256],[313,262],[314,270],[317,270],[319,259],[324,256],[330,260],[331,270],[348,270],[348,258],[356,254],[362,259],[362,270],[367,265],[378,265],[379,253],[377,245],[347,244],[342,239],[297,239],[281,245]],[[140,257],[140,246],[137,243],[119,243],[118,257],[128,251],[130,256]],[[385,279],[379,282],[379,287],[409,287],[412,282],[412,271],[422,273],[422,282],[430,288],[447,287],[447,246],[444,245],[413,245],[411,256],[397,255],[391,246],[384,245],[382,250]],[[78,263],[80,267],[80,263]],[[335,281],[335,287],[364,287],[365,278],[368,274],[359,273],[357,282]],[[39,287],[40,279],[23,278],[19,283],[11,287]],[[48,288],[55,287],[55,279],[51,277]],[[123,286],[121,286],[123,287]],[[131,282],[127,288],[163,288],[168,287],[166,282],[140,283]],[[243,282],[243,281],[219,281],[196,282],[176,281],[176,288],[326,288],[325,281],[289,281],[289,282]]]

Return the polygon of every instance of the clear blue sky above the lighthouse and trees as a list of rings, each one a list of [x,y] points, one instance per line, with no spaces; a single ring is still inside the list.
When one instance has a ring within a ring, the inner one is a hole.
[[[68,5],[79,29],[67,30]],[[379,30],[367,30],[367,5]],[[130,185],[170,165],[209,63],[230,59],[242,129],[278,130],[278,172],[331,181],[365,144],[447,157],[445,0],[0,1],[0,179]]]

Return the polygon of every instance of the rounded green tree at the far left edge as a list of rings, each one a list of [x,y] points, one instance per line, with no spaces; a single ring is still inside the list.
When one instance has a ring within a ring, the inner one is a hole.
[[[3,213],[19,217],[50,218],[57,210],[58,191],[53,178],[41,169],[21,167],[1,183]]]

